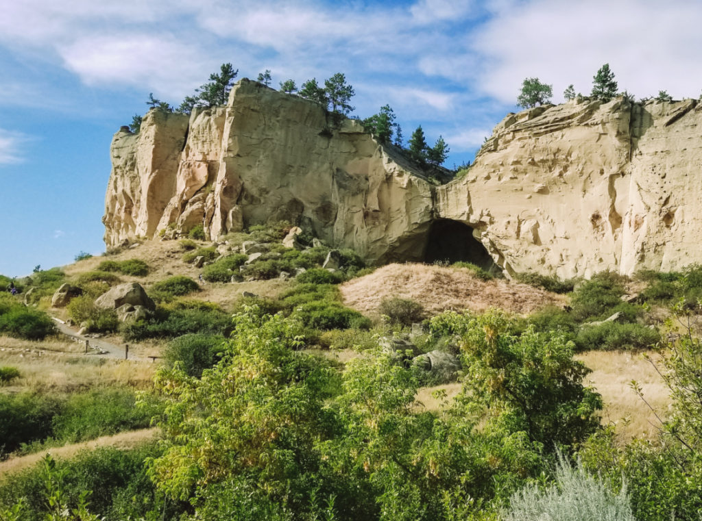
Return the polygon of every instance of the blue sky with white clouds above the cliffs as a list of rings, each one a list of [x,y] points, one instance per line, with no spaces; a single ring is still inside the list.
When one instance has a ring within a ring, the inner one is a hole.
[[[355,114],[395,109],[405,138],[442,135],[470,160],[522,80],[589,93],[702,89],[702,2],[673,0],[2,1],[0,273],[73,262],[102,243],[109,148],[149,93],[179,104],[223,62],[273,86],[335,72]]]

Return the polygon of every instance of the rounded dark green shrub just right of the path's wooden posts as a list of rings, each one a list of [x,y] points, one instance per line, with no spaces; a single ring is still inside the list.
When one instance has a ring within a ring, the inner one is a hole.
[[[191,377],[201,377],[203,370],[213,367],[223,351],[225,338],[213,334],[190,333],[168,342],[164,353],[166,363],[173,367],[176,362]]]

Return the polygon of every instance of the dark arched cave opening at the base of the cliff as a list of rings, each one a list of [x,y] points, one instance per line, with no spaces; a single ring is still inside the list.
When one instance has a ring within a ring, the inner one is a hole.
[[[473,229],[463,222],[440,219],[432,222],[424,250],[424,262],[470,262],[490,273],[502,270],[485,247],[473,236]]]

